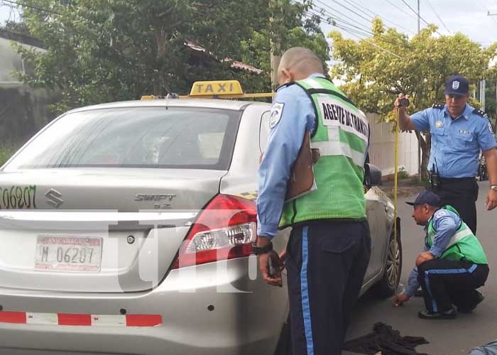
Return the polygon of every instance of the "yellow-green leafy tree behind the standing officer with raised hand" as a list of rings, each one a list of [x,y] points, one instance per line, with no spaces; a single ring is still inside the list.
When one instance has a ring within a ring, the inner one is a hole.
[[[435,36],[436,29],[430,25],[408,38],[376,18],[372,38],[356,41],[329,33],[332,57],[338,61],[330,74],[345,82],[342,89],[361,109],[381,114],[385,121],[395,120],[393,102],[399,93],[410,95],[411,113],[444,102],[447,77],[459,73],[476,82],[486,75],[495,50],[481,48],[461,33]],[[471,104],[478,106],[474,100]],[[427,178],[430,133],[416,136],[422,148],[422,178]]]

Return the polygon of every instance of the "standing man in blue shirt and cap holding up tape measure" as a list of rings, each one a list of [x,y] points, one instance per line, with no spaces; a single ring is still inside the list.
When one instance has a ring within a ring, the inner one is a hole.
[[[402,95],[395,100],[401,130],[429,131],[431,152],[428,170],[430,188],[457,209],[461,218],[476,233],[476,200],[478,199],[479,152],[486,159],[490,190],[486,209],[497,206],[496,140],[486,114],[471,107],[469,83],[461,75],[452,75],[445,86],[445,104],[409,116],[401,105]]]

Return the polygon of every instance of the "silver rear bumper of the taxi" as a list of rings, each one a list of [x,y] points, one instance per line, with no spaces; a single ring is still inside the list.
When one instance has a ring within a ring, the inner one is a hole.
[[[249,258],[223,263],[171,271],[144,293],[0,289],[4,311],[162,317],[155,327],[0,323],[0,354],[273,354],[288,314],[286,287],[251,280]]]

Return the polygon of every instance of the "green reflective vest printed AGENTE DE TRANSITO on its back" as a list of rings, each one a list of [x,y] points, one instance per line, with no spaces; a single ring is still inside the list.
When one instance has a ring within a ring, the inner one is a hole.
[[[366,116],[325,78],[309,78],[296,84],[314,104],[317,119],[311,147],[320,150],[321,158],[314,165],[317,190],[285,203],[280,228],[315,219],[366,218]]]

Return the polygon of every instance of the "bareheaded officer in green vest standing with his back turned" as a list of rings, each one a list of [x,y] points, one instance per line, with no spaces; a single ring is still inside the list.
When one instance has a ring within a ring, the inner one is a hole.
[[[363,190],[366,116],[324,77],[306,48],[286,51],[282,86],[271,111],[268,146],[258,171],[258,238],[263,278],[280,285],[271,239],[292,227],[285,254],[293,354],[339,355],[371,251]],[[305,134],[319,149],[317,189],[285,201],[290,171]],[[275,271],[270,273],[271,258]]]

